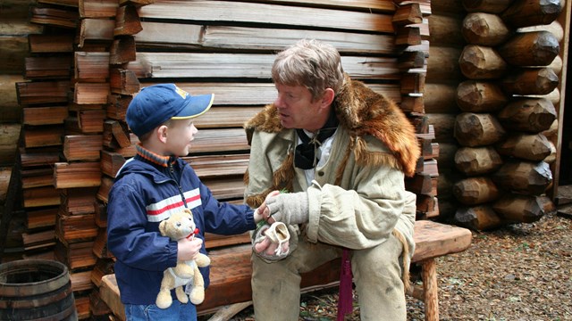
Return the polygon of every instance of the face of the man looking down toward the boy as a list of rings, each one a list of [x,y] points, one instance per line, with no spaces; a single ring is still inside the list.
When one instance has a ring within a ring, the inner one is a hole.
[[[323,124],[318,120],[320,100],[312,102],[312,95],[305,86],[276,84],[278,96],[274,105],[278,108],[284,128],[303,128],[315,131]]]

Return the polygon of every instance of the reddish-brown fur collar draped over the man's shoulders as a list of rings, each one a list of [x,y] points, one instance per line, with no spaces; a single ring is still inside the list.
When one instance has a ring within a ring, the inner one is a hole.
[[[384,95],[347,75],[333,106],[336,109],[340,126],[349,131],[352,137],[356,159],[359,162],[386,164],[402,170],[408,177],[415,174],[416,162],[420,155],[415,128],[396,103]],[[251,134],[259,131],[278,133],[282,125],[278,112],[269,104],[245,124],[248,143]],[[392,152],[392,158],[366,151],[364,136],[374,136]]]

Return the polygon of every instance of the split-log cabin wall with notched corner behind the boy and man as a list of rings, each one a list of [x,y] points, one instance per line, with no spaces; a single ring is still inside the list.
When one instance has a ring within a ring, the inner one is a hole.
[[[28,81],[16,84],[24,115],[23,257],[68,266],[80,318],[109,313],[97,292],[114,265],[105,204],[138,143],[124,120],[133,95],[161,82],[214,93],[186,159],[215,197],[242,202],[242,124],[273,101],[274,53],[299,38],[335,45],[350,76],[406,111],[423,148],[406,185],[418,195],[419,218],[439,215],[439,149],[422,95],[428,1],[38,0],[30,10],[30,21],[45,29],[30,35]],[[246,242],[247,234],[206,236],[209,249]]]

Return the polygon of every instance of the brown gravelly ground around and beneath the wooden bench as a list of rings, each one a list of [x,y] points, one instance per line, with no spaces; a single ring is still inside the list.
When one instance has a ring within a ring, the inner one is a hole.
[[[437,266],[441,320],[572,320],[571,216],[474,232],[467,251]],[[335,320],[337,291],[304,294],[299,320]],[[359,320],[355,299],[346,320]],[[254,320],[252,307],[232,319]],[[423,302],[408,297],[408,320],[425,320]]]

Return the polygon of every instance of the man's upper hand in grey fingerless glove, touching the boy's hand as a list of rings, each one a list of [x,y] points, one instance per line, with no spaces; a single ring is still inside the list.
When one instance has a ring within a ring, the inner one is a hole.
[[[263,216],[286,225],[306,223],[309,217],[306,192],[268,194],[265,208]]]

